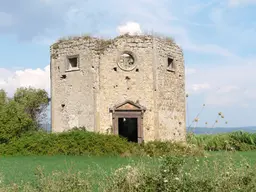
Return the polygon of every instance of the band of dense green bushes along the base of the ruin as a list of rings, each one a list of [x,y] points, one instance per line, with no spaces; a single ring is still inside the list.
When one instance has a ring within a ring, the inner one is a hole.
[[[62,133],[31,132],[0,144],[0,155],[198,156],[204,151],[256,150],[256,133],[187,135],[187,143],[128,142],[116,135],[74,129]]]

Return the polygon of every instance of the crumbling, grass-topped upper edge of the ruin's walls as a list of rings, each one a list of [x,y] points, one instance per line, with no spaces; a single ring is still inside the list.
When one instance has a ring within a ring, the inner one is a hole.
[[[54,48],[57,48],[59,44],[71,43],[71,42],[74,42],[74,41],[81,41],[81,40],[92,41],[92,42],[97,42],[97,43],[100,43],[100,44],[108,44],[108,45],[110,45],[110,44],[112,44],[113,42],[115,42],[116,40],[118,40],[120,38],[133,38],[133,39],[139,38],[139,39],[143,39],[143,40],[150,40],[150,39],[156,38],[159,41],[167,42],[168,44],[173,44],[173,45],[179,47],[175,43],[175,41],[174,41],[174,39],[172,37],[167,37],[167,36],[164,36],[164,35],[159,35],[159,34],[154,34],[154,35],[150,35],[150,34],[142,34],[142,35],[124,34],[124,35],[116,36],[115,38],[112,38],[112,39],[111,38],[110,39],[98,38],[98,37],[93,37],[93,36],[90,36],[90,35],[67,36],[67,37],[63,37],[63,38],[60,38],[59,40],[57,40],[57,42],[53,43],[50,46],[50,48],[54,49]]]

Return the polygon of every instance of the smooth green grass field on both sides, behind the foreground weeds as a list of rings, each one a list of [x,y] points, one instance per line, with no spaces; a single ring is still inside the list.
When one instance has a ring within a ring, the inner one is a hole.
[[[224,154],[231,155],[237,162],[246,158],[250,164],[256,163],[256,152],[210,152],[207,159],[211,161],[218,160],[222,162]],[[187,158],[187,161],[195,157]],[[205,157],[198,158],[199,161],[206,159]],[[224,160],[224,159],[223,159]],[[1,157],[0,158],[0,173],[2,176],[1,182],[4,184],[23,182],[33,183],[36,179],[35,171],[37,167],[43,168],[46,174],[51,174],[54,171],[81,171],[89,173],[94,182],[102,181],[106,176],[117,168],[132,164],[134,162],[143,161],[150,166],[157,165],[157,159],[154,158],[123,158],[123,157],[90,157],[90,156],[16,156],[16,157]],[[189,164],[188,164],[189,165]],[[193,165],[191,165],[193,166]],[[203,165],[202,165],[203,166]]]

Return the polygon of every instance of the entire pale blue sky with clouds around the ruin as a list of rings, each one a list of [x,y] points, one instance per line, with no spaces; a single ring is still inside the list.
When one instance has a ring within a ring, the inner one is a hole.
[[[0,3],[0,88],[49,91],[58,38],[157,32],[184,50],[188,119],[198,126],[256,125],[256,0],[9,0]],[[226,125],[224,122],[228,121]]]

